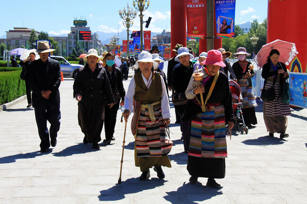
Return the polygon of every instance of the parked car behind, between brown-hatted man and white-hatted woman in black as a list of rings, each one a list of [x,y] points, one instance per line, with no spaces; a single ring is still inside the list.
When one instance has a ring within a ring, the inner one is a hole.
[[[62,56],[50,56],[51,59],[58,60],[61,66],[61,71],[63,72],[63,76],[76,78],[79,68],[82,67],[80,64],[71,64]]]

